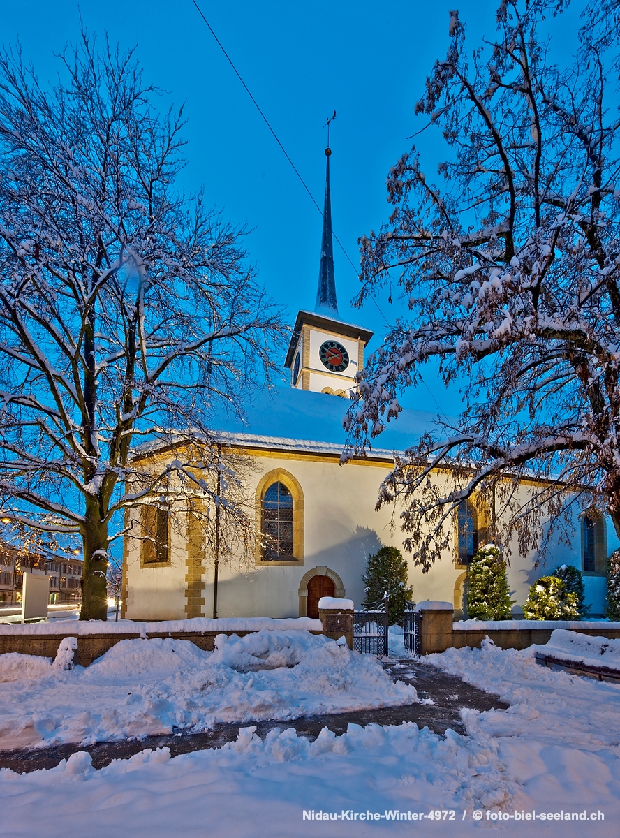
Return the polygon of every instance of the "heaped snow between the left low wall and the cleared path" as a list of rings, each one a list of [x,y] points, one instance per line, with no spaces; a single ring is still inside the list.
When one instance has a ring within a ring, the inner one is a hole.
[[[0,655],[2,672],[10,680],[0,683],[0,749],[416,701],[370,655],[297,630],[220,635],[214,652],[189,640],[121,640],[85,669]]]

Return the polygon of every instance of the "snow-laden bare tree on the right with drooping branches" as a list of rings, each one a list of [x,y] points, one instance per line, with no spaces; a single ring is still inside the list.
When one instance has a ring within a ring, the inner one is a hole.
[[[544,546],[542,516],[562,520],[576,494],[620,535],[617,3],[581,6],[562,69],[550,44],[567,5],[503,0],[497,37],[471,54],[450,13],[447,57],[416,106],[447,144],[443,185],[414,147],[390,170],[389,222],[360,240],[359,303],[394,281],[411,314],[363,371],[354,449],[398,416],[426,361],[446,384],[466,382],[457,426],[439,422],[381,489],[380,504],[403,499],[406,546],[424,570],[474,493],[499,503],[495,535],[507,542],[516,528],[522,551]],[[450,487],[431,479],[447,465]],[[518,503],[526,477],[540,482]]]

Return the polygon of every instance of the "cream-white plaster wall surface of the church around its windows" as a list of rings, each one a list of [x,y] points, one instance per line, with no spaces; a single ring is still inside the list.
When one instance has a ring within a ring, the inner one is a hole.
[[[341,467],[337,461],[325,458],[295,458],[271,453],[258,455],[255,471],[249,478],[248,494],[254,494],[262,476],[272,469],[284,468],[297,478],[304,494],[305,533],[304,561],[299,566],[241,566],[238,559],[231,566],[220,565],[218,586],[218,616],[297,617],[298,588],[304,574],[317,566],[328,566],[343,580],[345,595],[359,606],[364,599],[361,575],[370,553],[380,546],[402,547],[403,535],[398,514],[392,520],[392,510],[375,511],[380,482],[388,473],[387,467],[349,463]],[[447,476],[437,477],[442,482]],[[522,499],[527,489],[521,493]],[[576,511],[576,522],[577,520]],[[453,525],[451,526],[453,530]],[[556,544],[546,564],[535,567],[536,553],[520,556],[514,542],[509,556],[508,578],[517,607],[522,607],[530,585],[562,563],[581,568],[581,535],[577,526],[571,545]],[[614,536],[615,537],[615,536]],[[611,551],[615,542],[609,541]],[[173,535],[173,563],[171,567],[140,568],[139,545],[129,549],[129,597],[127,616],[130,618],[183,618],[185,616],[185,554],[184,539]],[[445,551],[428,573],[412,566],[409,561],[409,581],[413,585],[416,602],[424,599],[445,600],[452,603],[457,578],[462,568],[454,565],[454,547]],[[213,563],[205,561],[204,616],[213,613]],[[604,607],[604,578],[586,577],[586,597],[592,613],[600,614]],[[519,613],[519,608],[514,609]]]

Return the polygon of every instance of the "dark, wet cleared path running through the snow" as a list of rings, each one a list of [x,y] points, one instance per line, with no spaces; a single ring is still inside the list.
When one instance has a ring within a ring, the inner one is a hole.
[[[0,768],[30,772],[40,768],[54,768],[60,760],[68,759],[76,751],[87,751],[95,768],[103,768],[113,759],[126,759],[147,747],[169,747],[171,756],[190,753],[204,748],[222,747],[234,742],[240,727],[256,725],[256,734],[264,738],[278,727],[280,730],[294,728],[298,736],[313,742],[323,727],[336,735],[346,732],[349,724],[365,727],[369,724],[400,725],[402,722],[416,722],[418,727],[429,727],[434,733],[445,733],[447,728],[466,734],[460,710],[503,710],[509,705],[498,696],[493,696],[476,686],[467,684],[457,675],[449,675],[437,666],[421,660],[385,660],[385,671],[392,680],[402,680],[416,687],[420,703],[397,707],[377,707],[370,710],[346,711],[320,716],[304,716],[298,719],[267,722],[216,723],[212,730],[200,733],[176,733],[163,736],[147,736],[125,742],[95,742],[91,745],[68,743],[51,747],[19,748],[0,751]]]

